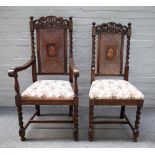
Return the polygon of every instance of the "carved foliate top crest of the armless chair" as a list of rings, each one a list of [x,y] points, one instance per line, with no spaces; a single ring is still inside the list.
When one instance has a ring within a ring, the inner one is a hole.
[[[126,26],[123,26],[122,24],[109,22],[109,23],[103,23],[101,25],[96,26],[96,33],[98,34],[102,32],[127,34],[128,28]]]

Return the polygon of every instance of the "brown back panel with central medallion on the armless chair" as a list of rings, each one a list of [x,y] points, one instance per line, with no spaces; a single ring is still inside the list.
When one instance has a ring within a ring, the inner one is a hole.
[[[123,67],[124,35],[119,33],[101,33],[97,43],[97,73],[101,75],[119,75]]]

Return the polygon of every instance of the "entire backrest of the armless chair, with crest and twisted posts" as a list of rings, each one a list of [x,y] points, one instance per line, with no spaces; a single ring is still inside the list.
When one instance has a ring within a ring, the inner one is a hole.
[[[126,60],[123,73],[123,50],[126,37]],[[131,23],[92,23],[91,82],[96,76],[124,76],[128,80]],[[96,48],[97,41],[97,48]]]

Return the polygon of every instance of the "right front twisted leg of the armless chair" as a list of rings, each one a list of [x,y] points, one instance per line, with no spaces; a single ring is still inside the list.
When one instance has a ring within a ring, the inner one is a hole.
[[[137,139],[139,136],[139,124],[140,124],[141,108],[142,108],[142,106],[137,106],[136,121],[135,121],[135,127],[134,127],[134,131],[133,131],[133,141],[134,142],[137,142]]]

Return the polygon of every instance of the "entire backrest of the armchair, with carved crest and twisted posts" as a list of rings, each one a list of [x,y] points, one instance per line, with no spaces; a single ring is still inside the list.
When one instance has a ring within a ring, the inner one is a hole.
[[[30,17],[31,57],[35,59],[32,67],[34,81],[37,74],[68,74],[67,36],[69,33],[69,57],[73,57],[72,31],[72,17],[69,20],[55,16],[40,17],[36,20]]]

